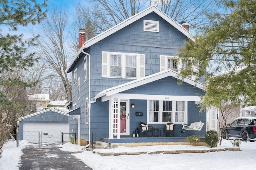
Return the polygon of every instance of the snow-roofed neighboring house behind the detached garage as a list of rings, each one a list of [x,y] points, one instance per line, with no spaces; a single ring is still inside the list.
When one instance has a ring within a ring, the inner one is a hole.
[[[34,94],[28,96],[28,98],[34,101],[36,112],[45,109],[55,109],[65,113],[69,111],[69,109],[65,107],[67,100],[50,100],[49,94]]]

